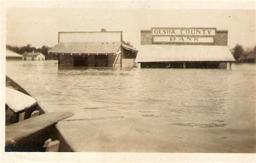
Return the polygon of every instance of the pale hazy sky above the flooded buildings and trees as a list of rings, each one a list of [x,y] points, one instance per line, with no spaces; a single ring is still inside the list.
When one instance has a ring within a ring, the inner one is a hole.
[[[52,47],[58,31],[123,31],[123,39],[140,47],[140,30],[151,27],[205,27],[228,30],[228,46],[255,45],[255,10],[9,8],[6,44]]]

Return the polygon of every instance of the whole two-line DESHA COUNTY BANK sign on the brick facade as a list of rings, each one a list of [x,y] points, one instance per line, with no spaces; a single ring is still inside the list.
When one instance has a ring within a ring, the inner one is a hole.
[[[152,28],[153,43],[213,44],[215,28]]]

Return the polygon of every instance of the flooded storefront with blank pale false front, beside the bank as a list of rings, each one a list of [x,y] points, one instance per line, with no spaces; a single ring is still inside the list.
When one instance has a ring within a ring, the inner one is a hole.
[[[59,32],[49,50],[59,66],[134,67],[138,51],[123,43],[122,31]]]

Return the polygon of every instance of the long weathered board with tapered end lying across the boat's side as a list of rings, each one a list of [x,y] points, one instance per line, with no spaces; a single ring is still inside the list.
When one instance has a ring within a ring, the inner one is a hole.
[[[58,121],[73,116],[71,112],[49,112],[16,124],[5,126],[5,146],[43,130]]]

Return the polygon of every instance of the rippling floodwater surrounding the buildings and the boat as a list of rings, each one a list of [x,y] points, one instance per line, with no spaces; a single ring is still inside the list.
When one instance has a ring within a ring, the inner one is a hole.
[[[255,150],[255,64],[219,69],[58,69],[56,60],[7,61],[6,74],[80,152]]]

